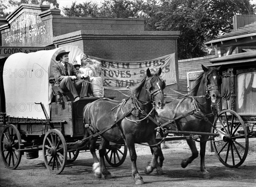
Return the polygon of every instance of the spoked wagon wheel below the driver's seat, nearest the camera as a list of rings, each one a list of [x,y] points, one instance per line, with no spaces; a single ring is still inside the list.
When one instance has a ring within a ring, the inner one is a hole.
[[[43,142],[44,164],[53,174],[61,173],[67,161],[67,144],[59,130],[49,130]]]

